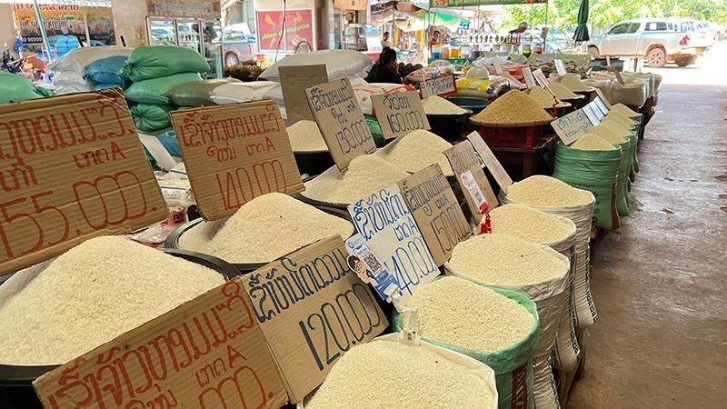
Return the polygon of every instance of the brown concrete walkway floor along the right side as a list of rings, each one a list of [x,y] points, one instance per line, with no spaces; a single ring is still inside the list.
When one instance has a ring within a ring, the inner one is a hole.
[[[665,75],[632,215],[595,248],[570,408],[727,407],[727,87],[685,84]]]

